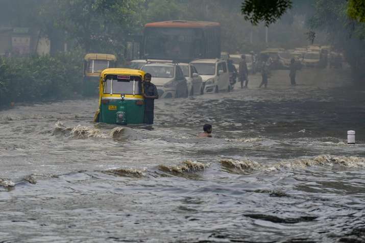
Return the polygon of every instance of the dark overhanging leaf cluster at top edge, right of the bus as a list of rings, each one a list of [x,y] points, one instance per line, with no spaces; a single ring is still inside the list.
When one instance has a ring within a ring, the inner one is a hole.
[[[253,25],[264,22],[266,26],[276,22],[292,7],[291,0],[246,0],[241,12]]]

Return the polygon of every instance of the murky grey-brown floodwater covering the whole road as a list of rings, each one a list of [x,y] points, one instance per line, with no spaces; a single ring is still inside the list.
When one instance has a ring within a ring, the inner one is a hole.
[[[96,99],[0,111],[0,242],[365,242],[365,92],[250,78],[158,100],[153,128],[93,123]]]

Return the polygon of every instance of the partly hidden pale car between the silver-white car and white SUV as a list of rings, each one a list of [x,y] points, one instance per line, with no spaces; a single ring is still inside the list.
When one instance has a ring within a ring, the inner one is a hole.
[[[203,94],[203,81],[197,69],[188,63],[179,63],[179,66],[186,78],[189,96]]]

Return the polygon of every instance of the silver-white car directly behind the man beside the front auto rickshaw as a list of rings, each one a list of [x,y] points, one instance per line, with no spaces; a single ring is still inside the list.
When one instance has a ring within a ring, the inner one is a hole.
[[[148,63],[141,67],[152,76],[159,98],[187,97],[187,81],[179,65],[172,63]]]

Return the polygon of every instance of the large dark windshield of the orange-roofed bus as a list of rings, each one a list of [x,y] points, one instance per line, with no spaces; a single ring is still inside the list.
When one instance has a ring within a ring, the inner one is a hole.
[[[203,33],[189,28],[147,28],[144,54],[153,59],[194,59],[202,54]]]

